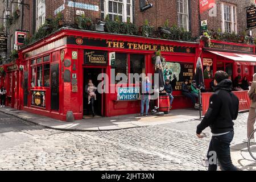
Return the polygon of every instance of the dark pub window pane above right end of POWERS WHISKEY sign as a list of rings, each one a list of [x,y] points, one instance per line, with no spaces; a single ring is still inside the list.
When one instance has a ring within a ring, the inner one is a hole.
[[[130,73],[141,75],[141,73],[145,73],[145,57],[144,55],[130,55]],[[134,83],[133,80],[131,82]]]

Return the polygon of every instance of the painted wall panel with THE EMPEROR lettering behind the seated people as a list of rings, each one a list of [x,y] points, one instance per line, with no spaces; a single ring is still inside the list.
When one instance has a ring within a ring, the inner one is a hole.
[[[167,62],[163,65],[164,80],[171,80],[172,89],[175,91],[181,90],[181,84],[185,79],[189,80],[189,83],[193,80],[194,64],[193,63],[174,63]]]

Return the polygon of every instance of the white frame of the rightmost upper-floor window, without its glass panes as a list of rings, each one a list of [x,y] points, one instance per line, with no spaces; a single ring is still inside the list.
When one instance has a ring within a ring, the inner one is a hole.
[[[230,3],[221,3],[221,29],[222,32],[227,32],[225,28],[225,23],[227,22],[225,20],[225,12],[224,12],[224,6],[229,6],[230,7],[230,21],[228,21],[231,26],[231,30],[228,33],[235,33],[237,34],[237,6],[230,4]]]

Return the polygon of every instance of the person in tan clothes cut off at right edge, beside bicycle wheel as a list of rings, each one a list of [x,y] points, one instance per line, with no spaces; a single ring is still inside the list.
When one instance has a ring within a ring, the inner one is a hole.
[[[250,97],[251,100],[251,106],[247,118],[247,139],[245,139],[244,142],[248,141],[248,138],[253,132],[256,119],[256,73],[253,75],[253,82],[251,82],[251,88],[248,91],[248,96]],[[251,137],[251,140],[255,142],[254,136]]]

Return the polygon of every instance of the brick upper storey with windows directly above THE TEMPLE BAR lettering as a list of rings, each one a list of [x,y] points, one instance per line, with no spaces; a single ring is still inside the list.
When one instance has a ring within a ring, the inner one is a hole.
[[[144,24],[147,19],[151,26],[160,27],[166,20],[170,26],[176,24],[191,31],[193,35],[199,33],[199,6],[196,0],[171,0],[149,1],[152,8],[141,11],[140,0],[77,0],[77,1],[46,1],[46,17],[53,17],[62,12],[66,23],[72,23],[76,13],[84,13],[92,20],[104,19],[107,14],[110,19],[119,16],[123,22],[135,23],[137,26]],[[174,8],[175,7],[175,8]]]

